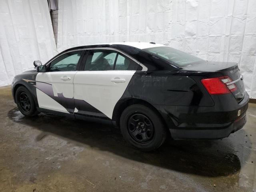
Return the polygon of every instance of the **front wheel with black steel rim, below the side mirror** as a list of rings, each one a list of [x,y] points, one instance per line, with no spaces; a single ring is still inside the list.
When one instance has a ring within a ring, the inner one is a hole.
[[[15,94],[15,100],[20,112],[24,116],[32,117],[38,114],[33,96],[26,87],[18,87]]]

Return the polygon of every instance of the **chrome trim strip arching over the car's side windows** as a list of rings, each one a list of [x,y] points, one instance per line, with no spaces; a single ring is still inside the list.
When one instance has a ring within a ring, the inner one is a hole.
[[[138,62],[136,59],[132,58],[131,56],[129,56],[128,54],[116,49],[116,48],[109,48],[109,47],[97,47],[97,48],[83,48],[83,49],[75,49],[75,50],[70,50],[70,51],[66,51],[66,52],[63,52],[62,54],[60,54],[58,57],[66,54],[66,53],[69,53],[69,52],[74,52],[74,51],[82,51],[82,50],[113,50],[113,51],[116,51],[116,52],[120,52],[121,54],[125,55],[126,57],[130,58],[131,60],[133,60],[134,62],[136,62],[138,65],[142,66],[142,70],[141,71],[147,71],[148,68],[146,66],[144,66],[143,64],[141,64],[140,62]],[[52,58],[50,61],[46,62],[45,65],[48,65],[50,64],[53,60],[57,59],[58,57],[56,58]]]

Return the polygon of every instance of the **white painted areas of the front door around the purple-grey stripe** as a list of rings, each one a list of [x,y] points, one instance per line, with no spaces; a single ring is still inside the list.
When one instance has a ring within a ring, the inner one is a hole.
[[[73,80],[75,74],[76,71],[38,73],[36,75],[36,81],[51,84],[52,91],[55,97],[58,97],[58,94],[62,94],[64,98],[74,98]],[[58,104],[58,102],[49,103],[49,100],[45,100],[44,98],[42,98],[43,95],[42,93],[40,93],[40,91],[38,91],[39,89],[40,87],[37,87],[36,89],[39,107],[59,111],[60,104]],[[49,90],[48,93],[46,92],[45,94],[50,94],[50,91],[51,90]]]

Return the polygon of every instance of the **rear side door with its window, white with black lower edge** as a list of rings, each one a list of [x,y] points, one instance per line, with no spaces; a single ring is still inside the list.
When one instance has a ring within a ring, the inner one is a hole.
[[[114,107],[138,66],[116,50],[87,50],[84,67],[74,77],[74,113],[112,119]]]

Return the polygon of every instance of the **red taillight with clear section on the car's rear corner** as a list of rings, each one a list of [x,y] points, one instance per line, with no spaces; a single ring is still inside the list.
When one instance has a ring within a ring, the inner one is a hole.
[[[201,82],[211,95],[227,94],[237,90],[235,84],[226,85],[232,82],[229,76],[202,79]]]

